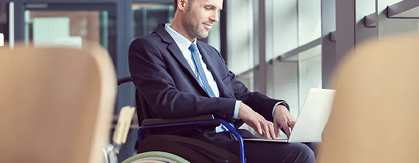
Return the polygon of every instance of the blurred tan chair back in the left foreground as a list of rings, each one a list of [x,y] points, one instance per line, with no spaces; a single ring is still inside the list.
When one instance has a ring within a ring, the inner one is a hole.
[[[2,162],[104,161],[116,76],[99,46],[0,47]]]

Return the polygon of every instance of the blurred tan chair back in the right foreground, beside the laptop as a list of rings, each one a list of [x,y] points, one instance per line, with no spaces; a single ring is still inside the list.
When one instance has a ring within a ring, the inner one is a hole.
[[[419,35],[357,46],[338,66],[318,162],[419,161]]]

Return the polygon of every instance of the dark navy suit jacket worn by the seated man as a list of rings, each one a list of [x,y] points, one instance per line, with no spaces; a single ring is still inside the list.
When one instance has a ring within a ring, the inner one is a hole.
[[[141,95],[142,110],[147,118],[184,118],[213,114],[234,123],[236,100],[241,100],[267,120],[272,121],[272,109],[277,102],[259,92],[250,92],[227,68],[220,53],[212,46],[197,42],[203,61],[207,64],[220,90],[219,98],[209,98],[199,85],[181,50],[160,24],[150,35],[136,38],[129,47],[129,70]],[[218,124],[216,124],[218,125]],[[214,132],[216,125],[205,129],[189,128],[184,134]],[[177,129],[179,131],[179,129]]]

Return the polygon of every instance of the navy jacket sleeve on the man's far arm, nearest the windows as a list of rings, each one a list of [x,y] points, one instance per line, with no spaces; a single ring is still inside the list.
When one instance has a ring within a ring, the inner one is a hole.
[[[217,51],[216,49],[214,50]],[[220,56],[221,60],[225,62],[219,52],[218,55]],[[228,69],[227,65],[225,66],[225,69],[228,72],[228,76],[230,76],[231,84],[234,90],[234,96],[252,108],[255,112],[258,112],[260,115],[265,117],[266,120],[273,121],[272,111],[275,105],[278,102],[286,103],[286,101],[272,99],[266,95],[261,94],[260,92],[250,91],[242,82],[236,78],[235,74]]]

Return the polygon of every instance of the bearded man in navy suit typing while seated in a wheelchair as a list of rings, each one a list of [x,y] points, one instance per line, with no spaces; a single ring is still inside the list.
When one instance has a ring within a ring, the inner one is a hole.
[[[174,0],[171,24],[160,24],[129,49],[129,69],[152,118],[184,118],[213,114],[234,124],[246,123],[266,138],[287,137],[295,124],[286,101],[250,92],[235,78],[220,53],[205,38],[218,22],[223,0]],[[269,121],[273,122],[273,126]],[[189,137],[239,155],[238,142],[223,125],[196,128]],[[240,130],[245,138],[256,138]],[[313,151],[301,143],[245,142],[247,162],[314,162]]]

